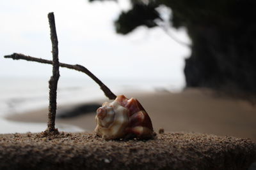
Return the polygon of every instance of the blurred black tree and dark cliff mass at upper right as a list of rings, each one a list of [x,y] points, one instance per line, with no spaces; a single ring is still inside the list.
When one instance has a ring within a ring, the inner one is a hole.
[[[115,21],[120,34],[158,26],[163,6],[172,10],[169,26],[186,28],[192,42],[184,69],[187,87],[256,94],[256,1],[129,1],[131,10]]]

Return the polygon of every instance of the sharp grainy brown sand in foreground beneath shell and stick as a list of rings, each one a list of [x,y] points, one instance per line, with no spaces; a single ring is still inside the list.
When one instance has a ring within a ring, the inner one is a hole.
[[[157,134],[147,141],[64,132],[0,135],[0,169],[248,169],[254,161],[250,139],[206,134]]]

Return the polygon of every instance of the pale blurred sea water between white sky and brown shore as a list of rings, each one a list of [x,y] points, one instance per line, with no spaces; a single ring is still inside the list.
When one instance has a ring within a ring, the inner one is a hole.
[[[0,133],[44,131],[46,122],[45,124],[11,122],[5,120],[4,116],[47,107],[49,104],[48,81],[49,78],[0,78]],[[184,87],[182,80],[172,79],[106,78],[102,81],[115,94],[156,90],[179,92]],[[104,97],[97,83],[88,78],[60,78],[58,82],[58,106],[86,103],[104,99]],[[69,132],[82,131],[72,125],[60,125],[58,129]]]

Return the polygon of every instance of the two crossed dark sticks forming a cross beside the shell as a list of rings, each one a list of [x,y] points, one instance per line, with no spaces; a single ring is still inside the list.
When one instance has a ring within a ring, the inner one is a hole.
[[[50,31],[51,31],[51,42],[52,42],[52,61],[51,60],[45,60],[45,59],[38,59],[35,57],[26,56],[19,53],[13,53],[12,55],[5,55],[4,58],[12,58],[13,60],[29,60],[29,61],[35,61],[40,62],[44,64],[52,64],[52,76],[49,80],[49,111],[48,111],[48,123],[47,123],[47,129],[45,130],[45,135],[49,134],[58,134],[58,129],[55,129],[55,119],[56,119],[56,109],[57,109],[57,88],[58,88],[58,80],[60,78],[60,71],[59,67],[67,67],[69,69],[74,69],[77,71],[81,71],[90,78],[92,78],[99,86],[100,89],[104,92],[104,94],[109,99],[115,99],[116,96],[109,90],[109,88],[102,83],[102,81],[99,80],[94,74],[92,74],[86,67],[83,67],[81,65],[70,65],[70,64],[63,64],[59,62],[58,58],[58,37],[56,32],[56,25],[55,25],[55,19],[54,19],[54,13],[48,14],[49,19],[49,25],[50,25]]]

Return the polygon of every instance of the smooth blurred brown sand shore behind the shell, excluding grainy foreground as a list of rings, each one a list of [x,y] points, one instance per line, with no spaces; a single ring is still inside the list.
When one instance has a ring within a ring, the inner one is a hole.
[[[207,89],[186,89],[180,93],[152,92],[124,94],[136,97],[147,110],[157,132],[200,132],[219,136],[250,138],[256,141],[256,106],[241,99],[218,96]],[[102,103],[93,101],[93,103]],[[59,106],[65,109],[74,106]],[[75,118],[57,119],[56,124],[71,124],[93,131],[95,113]],[[8,120],[47,122],[47,108],[12,115]]]

